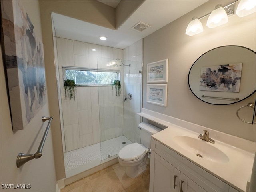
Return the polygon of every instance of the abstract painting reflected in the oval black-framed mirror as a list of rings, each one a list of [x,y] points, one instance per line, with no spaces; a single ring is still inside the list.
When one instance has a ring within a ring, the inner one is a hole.
[[[239,92],[242,63],[202,67],[201,91]]]

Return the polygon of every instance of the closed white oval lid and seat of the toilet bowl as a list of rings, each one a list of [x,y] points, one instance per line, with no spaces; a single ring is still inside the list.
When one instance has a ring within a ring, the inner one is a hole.
[[[138,143],[132,143],[120,150],[118,157],[123,161],[132,161],[144,156],[147,149]]]

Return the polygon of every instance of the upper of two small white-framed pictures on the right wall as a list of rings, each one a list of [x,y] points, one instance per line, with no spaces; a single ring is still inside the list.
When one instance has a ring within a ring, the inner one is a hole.
[[[148,83],[168,82],[168,59],[147,64]]]

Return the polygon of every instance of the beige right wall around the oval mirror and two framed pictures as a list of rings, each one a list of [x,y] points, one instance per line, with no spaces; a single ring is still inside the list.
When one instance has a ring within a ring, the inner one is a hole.
[[[220,2],[228,4],[227,1]],[[195,36],[185,34],[192,17],[207,14],[216,4],[218,1],[206,2],[144,38],[143,108],[255,141],[255,125],[238,120],[236,110],[254,102],[256,94],[236,104],[217,106],[202,102],[188,87],[190,67],[206,51],[224,45],[240,45],[256,50],[255,14],[244,18],[231,16],[227,24],[212,29],[206,26],[206,17],[201,20],[204,32]],[[169,59],[168,101],[167,107],[161,107],[146,102],[146,64],[166,58]]]

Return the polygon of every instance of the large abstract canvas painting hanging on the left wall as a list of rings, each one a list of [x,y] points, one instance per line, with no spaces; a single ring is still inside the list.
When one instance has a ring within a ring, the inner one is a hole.
[[[43,44],[20,2],[1,1],[1,44],[14,131],[24,129],[47,100]]]

